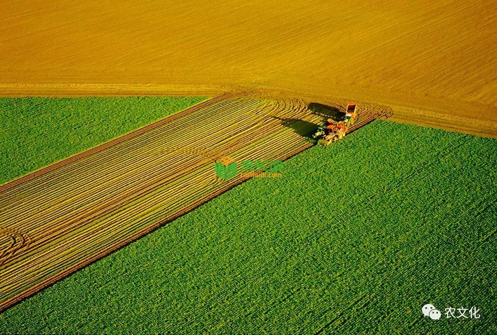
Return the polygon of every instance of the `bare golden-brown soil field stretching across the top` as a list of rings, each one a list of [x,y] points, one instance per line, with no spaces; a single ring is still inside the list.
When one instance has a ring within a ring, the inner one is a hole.
[[[495,1],[4,1],[0,95],[374,102],[497,137]]]

